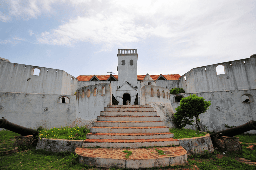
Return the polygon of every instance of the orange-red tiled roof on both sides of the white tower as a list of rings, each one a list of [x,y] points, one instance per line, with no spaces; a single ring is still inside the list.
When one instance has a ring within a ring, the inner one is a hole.
[[[116,79],[117,75],[113,75]],[[146,75],[138,75],[138,80],[143,80]],[[153,80],[156,80],[160,75],[150,75]],[[179,80],[181,77],[179,74],[162,74],[166,80]],[[93,76],[78,76],[78,81],[90,81]],[[100,81],[106,81],[110,75],[107,76],[96,76]]]

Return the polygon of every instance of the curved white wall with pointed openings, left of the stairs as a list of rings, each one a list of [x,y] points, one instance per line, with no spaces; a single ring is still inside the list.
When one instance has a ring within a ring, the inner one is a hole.
[[[102,87],[105,88],[105,94],[102,95]],[[94,88],[97,93],[94,96]],[[89,97],[87,90],[90,90]],[[112,88],[111,84],[96,84],[85,86],[77,89],[76,95],[76,122],[73,124],[87,125],[91,127],[93,122],[100,116],[100,111],[104,111],[104,107],[112,104]]]

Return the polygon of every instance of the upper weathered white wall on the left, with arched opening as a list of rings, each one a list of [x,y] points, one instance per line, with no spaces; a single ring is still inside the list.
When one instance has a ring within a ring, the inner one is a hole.
[[[41,70],[39,76],[31,75],[33,68]],[[63,70],[0,60],[0,73],[0,92],[73,95],[77,89],[78,79]]]

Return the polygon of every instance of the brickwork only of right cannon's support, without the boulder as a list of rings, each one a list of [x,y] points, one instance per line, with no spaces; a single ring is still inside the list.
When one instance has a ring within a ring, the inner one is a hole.
[[[219,136],[213,137],[213,140],[221,139],[225,143],[228,152],[239,152],[239,137]]]

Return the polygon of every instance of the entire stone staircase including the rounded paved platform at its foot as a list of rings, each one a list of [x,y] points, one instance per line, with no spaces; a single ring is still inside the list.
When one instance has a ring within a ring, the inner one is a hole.
[[[107,168],[184,165],[187,151],[172,137],[150,105],[107,105],[76,153],[80,163]],[[141,148],[144,146],[165,147]],[[160,149],[165,155],[157,153]],[[124,150],[132,152],[130,158],[125,157]]]

